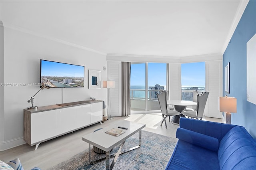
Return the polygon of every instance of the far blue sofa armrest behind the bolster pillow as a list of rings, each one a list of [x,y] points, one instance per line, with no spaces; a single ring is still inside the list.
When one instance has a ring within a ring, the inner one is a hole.
[[[182,117],[180,119],[180,127],[194,132],[205,134],[217,138],[219,141],[225,134],[237,125],[229,125],[224,123],[199,121],[196,119],[187,119]]]

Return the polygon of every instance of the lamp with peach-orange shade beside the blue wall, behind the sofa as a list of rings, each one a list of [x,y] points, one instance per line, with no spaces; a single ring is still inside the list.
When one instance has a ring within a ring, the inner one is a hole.
[[[231,113],[236,113],[236,98],[218,97],[218,110],[226,112],[226,124],[231,124]]]

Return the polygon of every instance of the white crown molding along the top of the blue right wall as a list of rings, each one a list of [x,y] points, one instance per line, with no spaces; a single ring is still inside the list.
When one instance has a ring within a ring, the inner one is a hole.
[[[226,48],[228,47],[228,43],[230,42],[230,40],[231,40],[235,30],[236,30],[236,27],[237,27],[243,13],[244,13],[244,10],[245,10],[248,2],[249,2],[249,0],[241,0],[240,1],[240,4],[239,4],[239,6],[236,10],[234,20],[233,20],[232,25],[230,27],[228,36],[226,37],[226,40],[225,40],[226,43],[224,44],[224,46],[222,48],[222,51],[221,51],[222,54],[224,54],[224,52],[226,51]]]

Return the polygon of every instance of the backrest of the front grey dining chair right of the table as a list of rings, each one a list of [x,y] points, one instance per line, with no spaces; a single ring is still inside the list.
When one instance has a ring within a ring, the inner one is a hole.
[[[208,95],[209,95],[208,91],[197,95],[197,100],[198,100],[197,107],[196,107],[196,109],[197,109],[196,117],[197,118],[202,118],[204,115],[204,108],[206,105]]]

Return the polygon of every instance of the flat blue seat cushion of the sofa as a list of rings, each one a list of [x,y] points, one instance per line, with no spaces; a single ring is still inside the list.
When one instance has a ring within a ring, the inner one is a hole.
[[[166,170],[219,170],[217,152],[178,140]]]

